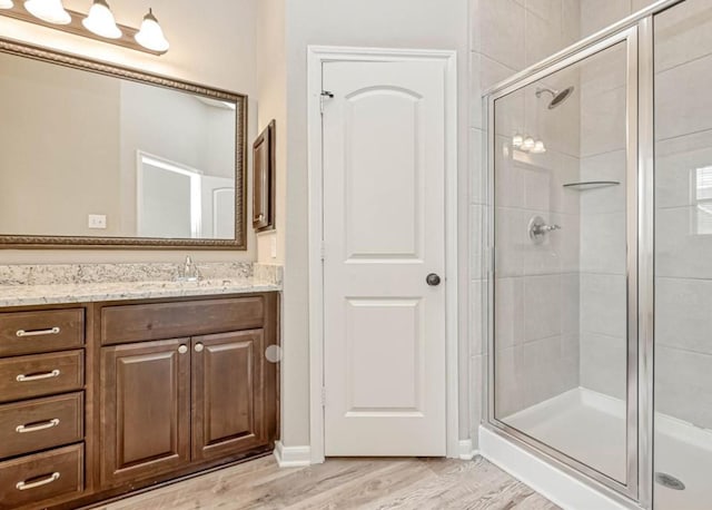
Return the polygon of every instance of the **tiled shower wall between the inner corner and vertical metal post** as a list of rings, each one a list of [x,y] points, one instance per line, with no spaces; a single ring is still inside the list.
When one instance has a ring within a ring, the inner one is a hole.
[[[584,6],[585,7],[585,6]],[[626,45],[587,58],[581,77],[581,385],[625,399]]]

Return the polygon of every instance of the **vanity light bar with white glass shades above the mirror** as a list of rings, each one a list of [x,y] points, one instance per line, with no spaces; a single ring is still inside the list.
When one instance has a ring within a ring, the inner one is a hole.
[[[140,30],[116,22],[111,0],[87,0],[88,13],[65,9],[62,0],[0,0],[0,16],[88,37],[150,55],[164,55],[170,45],[149,9]]]

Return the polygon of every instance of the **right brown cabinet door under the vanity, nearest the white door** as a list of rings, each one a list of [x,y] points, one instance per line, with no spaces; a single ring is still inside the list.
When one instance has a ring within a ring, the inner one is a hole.
[[[192,339],[192,459],[266,444],[263,330]]]

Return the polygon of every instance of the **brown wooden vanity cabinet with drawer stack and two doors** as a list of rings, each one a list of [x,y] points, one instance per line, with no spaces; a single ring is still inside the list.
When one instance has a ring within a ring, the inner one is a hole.
[[[0,308],[0,509],[78,508],[273,450],[279,294],[218,287]]]

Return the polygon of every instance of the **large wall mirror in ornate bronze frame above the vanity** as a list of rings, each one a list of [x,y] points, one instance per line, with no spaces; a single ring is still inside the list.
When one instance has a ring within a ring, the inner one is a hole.
[[[0,247],[246,249],[246,96],[0,39]]]

